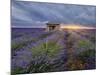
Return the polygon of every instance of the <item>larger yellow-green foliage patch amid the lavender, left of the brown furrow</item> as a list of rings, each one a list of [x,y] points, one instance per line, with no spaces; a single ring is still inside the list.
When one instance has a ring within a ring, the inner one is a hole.
[[[53,57],[57,54],[57,52],[59,52],[60,49],[61,46],[58,45],[56,42],[49,41],[49,42],[42,43],[39,46],[33,47],[31,50],[33,56],[39,56],[43,54],[43,55],[48,55],[50,57]]]

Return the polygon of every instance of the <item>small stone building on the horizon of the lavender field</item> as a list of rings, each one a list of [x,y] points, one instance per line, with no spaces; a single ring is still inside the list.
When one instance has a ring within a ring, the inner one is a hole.
[[[47,23],[46,25],[47,25],[46,31],[60,30],[60,24],[59,23]]]

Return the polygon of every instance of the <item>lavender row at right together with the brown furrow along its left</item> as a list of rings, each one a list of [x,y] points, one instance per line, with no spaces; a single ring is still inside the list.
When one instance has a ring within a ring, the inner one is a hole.
[[[68,33],[68,31],[65,31]],[[65,36],[68,70],[87,70],[96,68],[95,30],[71,30]]]

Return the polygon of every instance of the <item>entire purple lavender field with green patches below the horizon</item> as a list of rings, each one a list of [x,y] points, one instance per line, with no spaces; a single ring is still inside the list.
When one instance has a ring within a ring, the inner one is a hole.
[[[95,69],[95,31],[12,28],[12,75]]]

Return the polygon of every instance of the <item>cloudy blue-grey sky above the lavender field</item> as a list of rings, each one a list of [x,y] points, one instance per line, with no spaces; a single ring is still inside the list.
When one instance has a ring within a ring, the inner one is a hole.
[[[12,1],[11,10],[12,27],[44,27],[47,22],[96,25],[96,7],[90,5]]]

